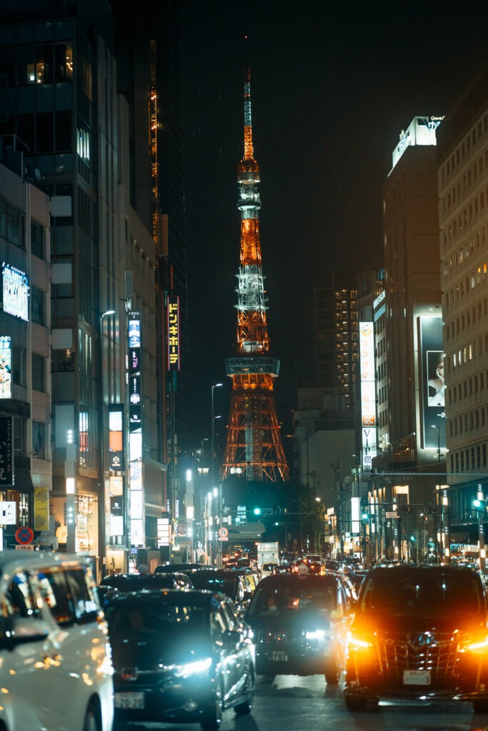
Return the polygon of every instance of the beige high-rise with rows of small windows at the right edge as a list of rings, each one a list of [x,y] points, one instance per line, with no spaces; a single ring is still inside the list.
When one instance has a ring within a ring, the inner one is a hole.
[[[475,543],[473,499],[488,493],[487,69],[440,126],[438,186],[449,508],[453,537]]]

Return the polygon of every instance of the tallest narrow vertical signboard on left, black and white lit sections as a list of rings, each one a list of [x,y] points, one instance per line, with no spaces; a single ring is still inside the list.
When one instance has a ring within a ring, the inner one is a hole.
[[[140,313],[128,315],[127,362],[129,381],[129,541],[145,545],[142,463],[142,349]]]

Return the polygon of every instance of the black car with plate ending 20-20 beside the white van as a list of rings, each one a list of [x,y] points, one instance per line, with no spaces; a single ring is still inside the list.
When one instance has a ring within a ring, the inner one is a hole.
[[[228,596],[211,591],[138,591],[105,607],[114,667],[114,730],[127,723],[200,722],[250,713],[251,633]]]

